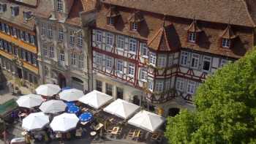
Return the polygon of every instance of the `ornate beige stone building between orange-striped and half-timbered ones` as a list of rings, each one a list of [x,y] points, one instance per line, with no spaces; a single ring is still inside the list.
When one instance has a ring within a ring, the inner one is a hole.
[[[85,38],[88,31],[83,28],[80,13],[89,9],[90,1],[50,2],[47,10],[50,16],[36,16],[41,82],[89,91],[88,39]]]

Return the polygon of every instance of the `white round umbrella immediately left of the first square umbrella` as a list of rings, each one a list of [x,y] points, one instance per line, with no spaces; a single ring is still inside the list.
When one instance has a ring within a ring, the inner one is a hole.
[[[67,89],[59,94],[60,99],[63,99],[67,102],[77,101],[82,96],[83,91],[80,91],[75,88]]]

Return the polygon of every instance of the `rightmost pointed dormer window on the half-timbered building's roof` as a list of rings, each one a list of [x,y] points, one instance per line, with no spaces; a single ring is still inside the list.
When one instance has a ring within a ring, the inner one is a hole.
[[[231,26],[228,25],[220,37],[221,37],[221,47],[222,48],[231,48],[232,43],[236,39],[237,36],[232,31]]]

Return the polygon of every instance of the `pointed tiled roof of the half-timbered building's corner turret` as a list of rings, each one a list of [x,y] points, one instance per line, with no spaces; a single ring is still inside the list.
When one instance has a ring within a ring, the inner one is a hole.
[[[171,31],[170,25],[165,26],[164,23],[157,34],[148,40],[148,47],[153,50],[173,50],[170,42],[171,32],[173,31]]]

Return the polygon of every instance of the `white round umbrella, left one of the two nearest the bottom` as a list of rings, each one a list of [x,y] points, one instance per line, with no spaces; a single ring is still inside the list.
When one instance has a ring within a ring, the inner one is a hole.
[[[45,113],[31,113],[22,121],[22,128],[27,131],[42,129],[49,123],[49,116]]]

